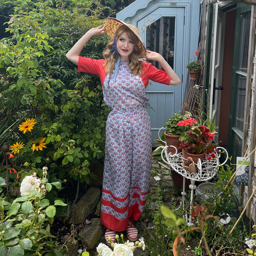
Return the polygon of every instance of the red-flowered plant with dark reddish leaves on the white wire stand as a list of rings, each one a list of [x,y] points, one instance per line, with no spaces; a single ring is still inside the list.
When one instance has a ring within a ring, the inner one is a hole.
[[[179,138],[183,158],[191,157],[197,163],[198,158],[202,161],[204,155],[206,155],[207,160],[217,157],[216,146],[212,143],[214,135],[206,126],[197,126],[197,121],[194,118],[179,121],[178,126],[187,128],[186,132]]]

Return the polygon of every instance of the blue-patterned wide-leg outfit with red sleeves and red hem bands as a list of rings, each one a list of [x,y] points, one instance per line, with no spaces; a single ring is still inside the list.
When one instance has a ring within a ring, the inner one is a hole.
[[[97,74],[104,101],[111,111],[106,123],[101,222],[124,231],[128,219],[139,219],[146,204],[152,146],[150,119],[145,108],[148,81],[169,85],[170,77],[142,61],[144,73],[134,75],[121,61],[115,81],[105,73],[104,60],[79,57],[78,71]]]

